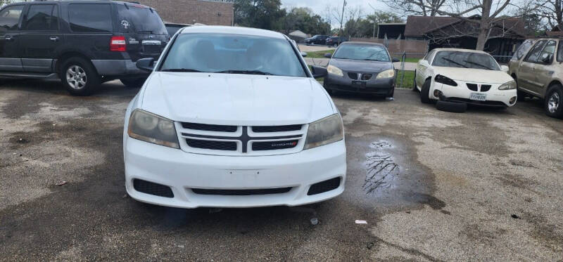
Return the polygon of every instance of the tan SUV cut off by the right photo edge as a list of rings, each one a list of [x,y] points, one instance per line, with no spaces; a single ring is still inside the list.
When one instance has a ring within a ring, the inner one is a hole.
[[[555,53],[557,51],[557,55]],[[508,63],[518,96],[544,100],[545,114],[563,117],[563,43],[558,38],[526,40]]]

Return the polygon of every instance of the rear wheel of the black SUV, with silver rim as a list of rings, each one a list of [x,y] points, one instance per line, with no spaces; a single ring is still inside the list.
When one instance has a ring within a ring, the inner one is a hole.
[[[100,85],[94,65],[84,58],[65,60],[59,77],[72,96],[89,96]]]

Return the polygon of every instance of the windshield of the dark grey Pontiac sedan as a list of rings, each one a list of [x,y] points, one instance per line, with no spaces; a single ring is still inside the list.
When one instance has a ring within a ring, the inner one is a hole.
[[[332,58],[391,62],[387,50],[383,46],[376,45],[342,45]]]

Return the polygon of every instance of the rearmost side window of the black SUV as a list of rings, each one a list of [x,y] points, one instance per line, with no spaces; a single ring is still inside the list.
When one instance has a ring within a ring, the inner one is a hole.
[[[113,32],[109,4],[70,4],[68,18],[72,32]]]

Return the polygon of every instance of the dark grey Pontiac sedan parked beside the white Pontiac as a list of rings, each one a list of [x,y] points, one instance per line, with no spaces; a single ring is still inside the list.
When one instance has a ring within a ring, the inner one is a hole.
[[[387,48],[382,44],[345,42],[336,48],[330,58],[324,78],[328,91],[345,91],[393,97],[395,92],[395,67]]]

